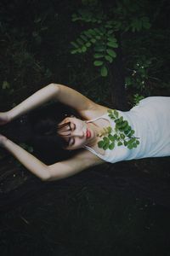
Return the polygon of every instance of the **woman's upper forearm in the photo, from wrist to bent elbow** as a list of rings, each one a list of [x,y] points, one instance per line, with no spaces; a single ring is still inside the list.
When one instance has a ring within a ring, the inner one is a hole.
[[[41,106],[43,103],[54,100],[57,90],[58,86],[54,84],[48,84],[41,90],[37,90],[37,92],[29,96],[25,101],[6,112],[8,114],[8,120],[11,121],[18,118],[20,115]]]

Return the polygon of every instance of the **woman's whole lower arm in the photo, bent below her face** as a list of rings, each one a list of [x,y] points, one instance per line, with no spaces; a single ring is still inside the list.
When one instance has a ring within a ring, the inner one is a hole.
[[[54,181],[70,177],[77,172],[82,172],[91,166],[96,166],[104,162],[88,150],[83,149],[82,152],[79,152],[69,160],[60,161],[48,166],[7,138],[2,139],[1,146],[6,148],[23,166],[42,181]]]

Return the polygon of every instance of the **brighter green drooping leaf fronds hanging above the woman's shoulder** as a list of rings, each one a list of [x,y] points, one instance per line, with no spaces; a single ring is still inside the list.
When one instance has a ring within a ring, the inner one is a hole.
[[[85,53],[89,47],[94,46],[94,66],[99,67],[102,77],[108,75],[108,65],[116,58],[114,49],[118,47],[111,24],[106,22],[105,25],[83,31],[71,45],[74,47],[71,54]]]

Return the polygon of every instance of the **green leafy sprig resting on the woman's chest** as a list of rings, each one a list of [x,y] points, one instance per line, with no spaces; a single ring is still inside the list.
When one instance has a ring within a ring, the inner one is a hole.
[[[117,146],[124,145],[129,149],[137,148],[139,145],[139,140],[137,137],[133,137],[135,131],[133,131],[127,120],[124,120],[122,116],[119,116],[119,113],[116,111],[116,109],[108,110],[108,113],[111,119],[113,119],[116,123],[114,134],[111,134],[113,131],[111,126],[107,127],[106,130],[108,137],[103,137],[103,139],[99,141],[98,147],[103,148],[104,150],[108,148],[112,150],[117,144]]]

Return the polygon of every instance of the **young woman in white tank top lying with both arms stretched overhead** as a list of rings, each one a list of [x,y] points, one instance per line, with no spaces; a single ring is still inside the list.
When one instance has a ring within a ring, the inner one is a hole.
[[[115,163],[121,160],[170,156],[170,97],[167,96],[150,96],[130,111],[116,111],[117,116],[127,121],[133,129],[133,137],[139,141],[135,148],[127,148],[124,143],[116,144],[112,149],[99,148],[98,143],[104,137],[105,132],[102,135],[102,131],[105,131],[105,127],[111,127],[112,136],[116,136],[116,120],[108,112],[111,109],[62,84],[48,84],[18,106],[0,113],[0,125],[5,125],[50,100],[57,100],[76,109],[82,117],[66,117],[56,126],[56,133],[63,139],[65,149],[81,149],[71,159],[45,165],[0,134],[0,145],[42,181],[69,177],[105,161]],[[125,137],[126,134],[122,135],[122,140],[125,141]]]

